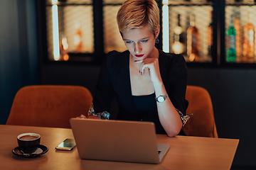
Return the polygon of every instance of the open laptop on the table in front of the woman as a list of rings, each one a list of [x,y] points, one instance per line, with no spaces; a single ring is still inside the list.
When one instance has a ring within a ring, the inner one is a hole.
[[[154,123],[71,118],[81,159],[159,164],[169,145],[156,143]]]

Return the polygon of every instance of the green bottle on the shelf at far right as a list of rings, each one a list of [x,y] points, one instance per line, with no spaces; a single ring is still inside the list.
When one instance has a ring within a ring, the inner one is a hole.
[[[230,27],[228,28],[228,37],[229,37],[229,48],[228,48],[228,62],[235,62],[236,61],[236,51],[235,51],[235,27],[234,27],[234,18],[233,15],[231,15],[231,22]]]

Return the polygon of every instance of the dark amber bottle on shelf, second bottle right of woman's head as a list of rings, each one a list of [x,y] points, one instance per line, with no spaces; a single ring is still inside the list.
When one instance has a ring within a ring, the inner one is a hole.
[[[199,32],[195,25],[195,15],[190,15],[190,26],[187,30],[187,55],[190,62],[199,62]]]

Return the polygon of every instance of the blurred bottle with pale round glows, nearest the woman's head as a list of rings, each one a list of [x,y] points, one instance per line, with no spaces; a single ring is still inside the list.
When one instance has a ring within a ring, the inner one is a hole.
[[[174,28],[174,44],[171,46],[175,54],[184,52],[183,29],[181,28],[181,15],[178,13],[178,24]]]

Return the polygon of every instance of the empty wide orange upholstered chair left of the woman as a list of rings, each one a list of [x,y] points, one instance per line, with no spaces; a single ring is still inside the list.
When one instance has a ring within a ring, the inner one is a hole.
[[[70,128],[70,118],[87,116],[92,95],[82,86],[38,85],[21,88],[6,125]]]

